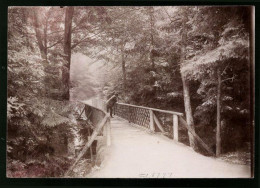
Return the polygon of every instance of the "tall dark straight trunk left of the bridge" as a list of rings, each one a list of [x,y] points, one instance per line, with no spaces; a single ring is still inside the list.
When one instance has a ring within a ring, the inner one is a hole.
[[[62,81],[64,85],[64,100],[70,99],[70,60],[71,60],[71,29],[72,29],[72,17],[74,13],[74,7],[66,7],[65,12],[65,31],[64,31],[64,54],[65,65],[62,69]]]

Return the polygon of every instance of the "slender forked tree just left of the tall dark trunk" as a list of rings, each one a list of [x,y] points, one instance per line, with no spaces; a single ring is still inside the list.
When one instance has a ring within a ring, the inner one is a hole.
[[[35,7],[27,10],[28,23],[32,26],[34,34],[28,29],[27,35],[35,35],[37,46],[41,53],[42,64],[45,67],[45,95],[61,100],[63,89],[60,76],[60,62],[57,62],[57,55],[61,54],[63,29],[62,18],[64,12],[59,7]]]

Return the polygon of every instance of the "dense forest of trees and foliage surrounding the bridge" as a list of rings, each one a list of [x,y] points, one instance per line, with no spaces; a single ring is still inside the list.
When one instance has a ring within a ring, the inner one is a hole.
[[[113,93],[250,162],[252,41],[251,7],[9,7],[7,176],[62,177],[77,101]]]

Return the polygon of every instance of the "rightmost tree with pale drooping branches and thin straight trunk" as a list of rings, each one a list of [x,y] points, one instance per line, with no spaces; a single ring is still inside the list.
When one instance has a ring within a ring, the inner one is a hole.
[[[226,96],[227,88],[232,88],[228,86],[230,85],[229,82],[233,83],[237,79],[237,68],[233,67],[234,61],[238,62],[236,66],[240,67],[239,69],[244,69],[245,73],[248,74],[248,68],[244,66],[248,61],[249,50],[248,18],[246,15],[250,14],[248,14],[245,7],[201,7],[197,10],[200,13],[198,15],[206,15],[206,18],[201,17],[198,19],[197,17],[194,20],[194,23],[196,23],[194,34],[204,37],[204,45],[201,47],[200,52],[188,61],[189,63],[185,65],[187,68],[184,68],[184,70],[190,70],[189,74],[193,79],[198,79],[202,76],[201,79],[204,80],[202,83],[206,83],[208,87],[212,87],[210,85],[214,84],[215,88],[206,91],[206,93],[211,94],[207,94],[207,101],[203,105],[204,108],[206,107],[205,104],[215,104],[216,106],[216,155],[219,156],[222,148],[222,127],[225,122],[221,114],[227,109],[232,109],[232,107],[224,104],[226,101],[235,98],[234,96],[231,97],[230,94]],[[233,15],[232,18],[227,20],[226,17],[231,15]],[[213,22],[213,20],[217,21]],[[212,28],[208,35],[203,34],[208,31],[208,28]],[[194,34],[193,37],[195,36]],[[194,61],[195,58],[198,60]],[[191,64],[193,64],[192,68],[190,67]],[[207,77],[209,77],[208,80]],[[246,80],[248,80],[248,75]],[[240,107],[237,109],[240,109]]]

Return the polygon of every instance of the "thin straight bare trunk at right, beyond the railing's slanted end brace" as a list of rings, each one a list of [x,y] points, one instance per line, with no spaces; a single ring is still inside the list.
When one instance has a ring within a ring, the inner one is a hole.
[[[217,68],[218,86],[217,86],[217,130],[216,130],[216,156],[221,153],[221,73]]]

